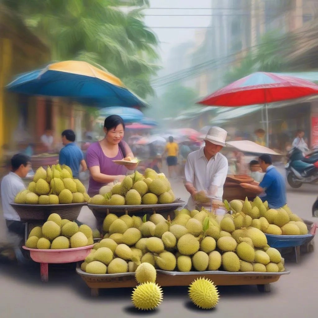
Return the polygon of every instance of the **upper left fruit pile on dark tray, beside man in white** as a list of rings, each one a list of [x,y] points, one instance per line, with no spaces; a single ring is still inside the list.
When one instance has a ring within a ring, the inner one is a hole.
[[[84,185],[73,179],[72,170],[66,165],[52,165],[36,170],[28,188],[17,194],[17,204],[71,204],[89,202]]]

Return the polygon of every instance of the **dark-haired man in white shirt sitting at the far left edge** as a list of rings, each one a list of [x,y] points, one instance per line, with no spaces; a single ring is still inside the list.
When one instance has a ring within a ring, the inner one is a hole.
[[[25,189],[22,178],[25,178],[31,169],[30,157],[24,154],[17,154],[11,158],[11,171],[3,177],[1,181],[1,201],[3,207],[3,216],[6,221],[9,232],[17,234],[24,238],[25,224],[20,221],[20,217],[13,209],[10,203],[14,202],[16,195]],[[21,251],[17,247],[17,258],[22,256]]]

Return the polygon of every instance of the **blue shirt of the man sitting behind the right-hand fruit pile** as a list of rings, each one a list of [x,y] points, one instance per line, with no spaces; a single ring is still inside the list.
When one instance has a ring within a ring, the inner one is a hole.
[[[274,166],[266,169],[266,174],[259,186],[266,193],[266,196],[261,197],[262,201],[267,201],[271,209],[279,209],[287,203],[285,179]]]

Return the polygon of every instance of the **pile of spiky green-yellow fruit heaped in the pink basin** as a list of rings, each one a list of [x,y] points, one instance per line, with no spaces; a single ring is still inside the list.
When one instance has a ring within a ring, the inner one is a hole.
[[[39,250],[61,250],[93,245],[94,238],[99,238],[97,230],[92,231],[88,225],[80,225],[59,214],[52,213],[43,226],[34,227],[25,242],[28,248]]]

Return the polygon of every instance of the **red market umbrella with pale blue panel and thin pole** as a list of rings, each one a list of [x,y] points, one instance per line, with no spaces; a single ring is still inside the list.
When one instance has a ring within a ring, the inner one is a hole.
[[[256,72],[217,90],[198,104],[226,107],[265,104],[268,145],[267,104],[315,94],[318,94],[318,85],[307,80],[276,73]]]

